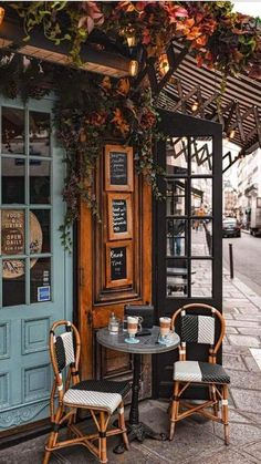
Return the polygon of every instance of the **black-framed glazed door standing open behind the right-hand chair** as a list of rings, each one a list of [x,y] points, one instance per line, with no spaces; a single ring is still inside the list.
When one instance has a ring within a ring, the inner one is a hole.
[[[160,112],[167,141],[157,146],[166,202],[155,203],[154,302],[157,317],[189,302],[222,303],[221,125]],[[203,346],[200,353],[203,355]],[[191,353],[194,355],[194,353]],[[169,396],[176,352],[155,358],[155,392]]]

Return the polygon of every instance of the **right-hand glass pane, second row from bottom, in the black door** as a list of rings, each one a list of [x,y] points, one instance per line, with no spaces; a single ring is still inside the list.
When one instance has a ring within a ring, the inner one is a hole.
[[[212,255],[212,220],[195,219],[191,225],[191,256]]]

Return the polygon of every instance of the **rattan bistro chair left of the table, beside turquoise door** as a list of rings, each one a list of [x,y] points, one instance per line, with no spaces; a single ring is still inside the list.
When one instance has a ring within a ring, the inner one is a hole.
[[[64,329],[62,333],[61,328]],[[75,326],[65,320],[54,322],[50,331],[50,353],[54,370],[50,401],[52,432],[45,446],[43,464],[49,463],[52,451],[79,444],[87,447],[101,463],[106,463],[106,437],[111,435],[122,434],[128,448],[123,398],[129,390],[129,383],[106,380],[81,382],[80,350],[80,334]],[[55,400],[56,393],[58,400]],[[97,433],[86,435],[80,431],[76,426],[79,409],[90,411]],[[118,427],[107,430],[109,417],[116,410],[118,410]],[[65,424],[72,437],[59,441],[59,430]]]

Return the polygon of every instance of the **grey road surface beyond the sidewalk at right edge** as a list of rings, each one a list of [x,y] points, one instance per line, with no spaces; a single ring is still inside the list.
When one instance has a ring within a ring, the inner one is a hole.
[[[233,271],[261,297],[261,238],[242,233],[241,238],[223,238],[223,266],[229,270],[229,244],[233,245]]]

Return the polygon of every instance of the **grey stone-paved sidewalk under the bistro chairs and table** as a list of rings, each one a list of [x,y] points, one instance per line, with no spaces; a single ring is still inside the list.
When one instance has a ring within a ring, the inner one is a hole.
[[[223,365],[231,377],[230,436],[222,441],[220,424],[200,416],[181,421],[171,443],[146,440],[132,443],[130,451],[115,455],[108,440],[109,464],[247,464],[261,462],[261,298],[239,279],[223,274],[223,310],[227,336]],[[258,365],[259,363],[259,365]],[[140,404],[142,420],[158,432],[167,432],[167,403],[147,400]],[[0,451],[1,464],[40,464],[46,437]],[[117,441],[117,439],[116,439]],[[82,446],[53,453],[50,464],[83,464],[97,461]]]

